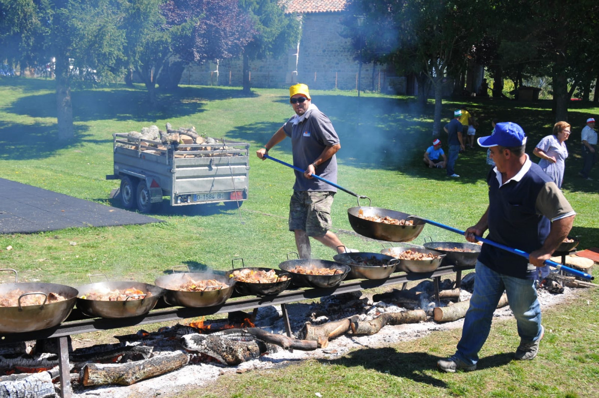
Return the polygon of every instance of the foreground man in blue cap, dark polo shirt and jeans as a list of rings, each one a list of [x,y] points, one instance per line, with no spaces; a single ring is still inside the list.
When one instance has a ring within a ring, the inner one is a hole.
[[[516,123],[497,123],[492,135],[477,142],[491,150],[495,167],[487,175],[489,206],[464,235],[476,236],[530,254],[526,258],[483,243],[476,263],[474,292],[464,318],[462,338],[452,357],[437,362],[443,372],[474,370],[491,330],[493,312],[503,291],[516,318],[520,345],[516,360],[531,360],[543,338],[537,300],[537,267],[543,267],[567,237],[576,213],[558,186],[524,153],[527,137]]]

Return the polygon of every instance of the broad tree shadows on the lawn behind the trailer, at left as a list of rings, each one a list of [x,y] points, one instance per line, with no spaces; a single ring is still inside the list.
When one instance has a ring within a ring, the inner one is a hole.
[[[253,93],[244,94],[238,88],[180,87],[173,92],[158,91],[157,104],[150,105],[147,91],[141,85],[134,88],[113,85],[99,89],[73,89],[71,100],[75,136],[68,143],[60,143],[55,121],[56,94],[48,92],[55,89],[53,81],[3,79],[0,80],[0,86],[19,87],[28,93],[5,107],[5,111],[23,117],[52,119],[33,124],[0,122],[0,159],[4,160],[43,159],[54,155],[57,150],[81,143],[111,142],[111,137],[98,140],[88,134],[89,127],[85,123],[94,120],[136,120],[151,124],[159,119],[199,113],[207,101],[256,96]],[[32,145],[35,150],[32,150]]]

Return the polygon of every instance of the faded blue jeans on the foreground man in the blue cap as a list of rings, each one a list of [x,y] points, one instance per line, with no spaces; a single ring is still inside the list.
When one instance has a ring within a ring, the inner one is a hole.
[[[479,360],[479,351],[489,336],[493,312],[504,290],[516,318],[521,341],[530,343],[541,336],[541,307],[534,281],[497,273],[480,261],[477,261],[475,270],[474,293],[455,353],[467,364],[476,364]]]

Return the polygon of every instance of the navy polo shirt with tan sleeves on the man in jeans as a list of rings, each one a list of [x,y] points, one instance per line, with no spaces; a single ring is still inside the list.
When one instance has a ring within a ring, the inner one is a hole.
[[[555,182],[528,155],[516,176],[503,185],[500,180],[497,168],[489,171],[489,240],[530,253],[543,246],[551,221],[576,214]],[[479,261],[516,278],[536,275],[527,258],[484,243]]]

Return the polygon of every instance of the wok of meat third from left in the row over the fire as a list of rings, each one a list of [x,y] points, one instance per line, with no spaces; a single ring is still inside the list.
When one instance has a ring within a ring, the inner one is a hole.
[[[189,269],[188,269],[189,270]],[[154,284],[165,290],[164,301],[171,306],[213,307],[225,303],[235,291],[235,280],[225,272],[186,272],[161,276]],[[221,282],[219,288],[207,288],[204,291],[181,291],[180,286],[193,281],[216,279]]]

